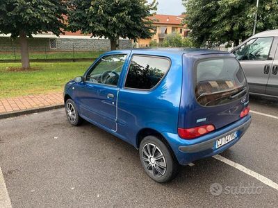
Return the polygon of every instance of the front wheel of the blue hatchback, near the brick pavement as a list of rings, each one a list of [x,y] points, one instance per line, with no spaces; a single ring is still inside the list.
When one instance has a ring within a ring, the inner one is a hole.
[[[67,114],[67,120],[70,124],[76,126],[82,123],[83,119],[79,116],[77,107],[72,99],[67,99],[67,101],[65,101],[65,113]]]

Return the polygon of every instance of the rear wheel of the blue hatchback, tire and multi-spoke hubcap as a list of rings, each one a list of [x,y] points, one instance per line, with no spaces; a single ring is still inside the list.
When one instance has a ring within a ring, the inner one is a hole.
[[[177,159],[157,137],[147,136],[142,139],[139,154],[142,166],[152,180],[165,183],[176,177],[179,170]]]

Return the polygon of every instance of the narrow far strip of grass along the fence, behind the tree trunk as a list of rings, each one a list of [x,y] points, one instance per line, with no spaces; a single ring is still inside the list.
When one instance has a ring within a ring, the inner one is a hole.
[[[73,58],[98,58],[104,52],[88,51],[88,52],[29,52],[30,59],[73,59]],[[20,60],[19,52],[0,53],[0,60]]]

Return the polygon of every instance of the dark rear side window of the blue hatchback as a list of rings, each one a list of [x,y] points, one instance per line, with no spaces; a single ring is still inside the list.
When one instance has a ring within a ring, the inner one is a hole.
[[[133,55],[124,87],[152,89],[170,68],[170,60],[146,55]]]

